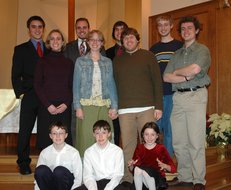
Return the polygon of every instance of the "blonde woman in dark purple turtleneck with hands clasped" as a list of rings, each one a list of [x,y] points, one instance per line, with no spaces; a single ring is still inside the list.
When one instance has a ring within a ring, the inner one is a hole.
[[[34,78],[35,91],[41,101],[37,120],[39,149],[52,143],[49,126],[54,121],[62,121],[68,127],[66,142],[72,145],[70,123],[74,64],[63,55],[65,40],[59,30],[48,34],[46,47],[50,53],[38,61]]]

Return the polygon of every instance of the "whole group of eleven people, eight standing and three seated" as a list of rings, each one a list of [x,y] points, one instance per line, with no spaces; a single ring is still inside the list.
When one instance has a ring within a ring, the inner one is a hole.
[[[31,173],[29,142],[37,118],[40,189],[164,189],[165,171],[178,172],[172,185],[205,189],[210,53],[197,42],[195,17],[180,19],[183,42],[171,36],[170,16],[156,24],[160,42],[150,50],[139,47],[139,33],[123,21],[114,24],[116,43],[105,50],[102,32],[90,30],[86,18],[76,20],[78,39],[68,44],[58,29],[43,42],[45,22],[28,19],[30,40],[15,47],[12,66],[21,99],[21,174]],[[118,146],[109,141],[113,136]]]

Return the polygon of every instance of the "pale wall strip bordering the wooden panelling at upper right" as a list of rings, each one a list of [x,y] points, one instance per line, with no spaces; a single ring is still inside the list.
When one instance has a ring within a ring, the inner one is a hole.
[[[173,11],[183,7],[207,2],[211,0],[143,0],[142,1],[142,41],[143,48],[148,47],[148,17]]]

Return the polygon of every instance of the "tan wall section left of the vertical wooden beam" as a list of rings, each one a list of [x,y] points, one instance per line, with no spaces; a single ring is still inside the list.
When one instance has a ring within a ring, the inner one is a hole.
[[[68,25],[67,7],[68,4],[65,0],[19,0],[17,44],[29,39],[26,21],[33,15],[41,16],[44,19],[46,23],[44,37],[52,29],[59,28],[66,38]]]

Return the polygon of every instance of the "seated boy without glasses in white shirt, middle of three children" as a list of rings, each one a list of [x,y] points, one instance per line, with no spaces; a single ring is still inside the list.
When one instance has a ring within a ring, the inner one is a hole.
[[[96,143],[90,146],[83,158],[83,185],[77,190],[122,190],[124,156],[120,147],[110,143],[111,127],[99,120],[93,126]]]

